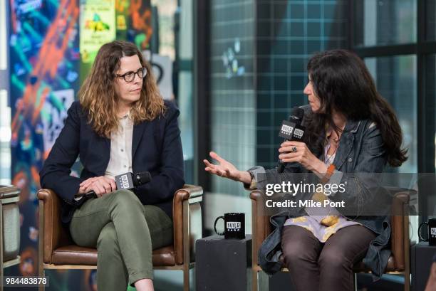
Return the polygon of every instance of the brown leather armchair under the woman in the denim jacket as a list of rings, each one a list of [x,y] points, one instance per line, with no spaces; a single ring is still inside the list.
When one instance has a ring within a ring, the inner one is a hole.
[[[410,239],[409,239],[409,201],[412,190],[387,188],[393,194],[393,213],[391,217],[391,249],[392,255],[388,260],[385,273],[404,274],[405,285],[404,290],[410,291]],[[271,233],[271,224],[269,223],[270,216],[264,213],[264,197],[259,190],[251,191],[251,223],[253,232],[253,248],[252,248],[252,272],[253,272],[253,291],[268,290],[268,282],[258,282],[258,273],[261,273],[261,268],[257,262],[257,253],[261,243]],[[287,268],[281,271],[287,272]],[[354,266],[355,273],[369,273],[370,270],[365,267],[363,262],[359,262]],[[263,273],[264,274],[264,273]]]

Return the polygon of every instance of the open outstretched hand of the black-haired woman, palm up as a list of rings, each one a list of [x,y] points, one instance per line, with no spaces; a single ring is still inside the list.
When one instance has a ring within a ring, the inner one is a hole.
[[[211,164],[207,159],[204,159],[203,162],[206,165],[204,171],[246,184],[251,182],[251,176],[248,171],[239,171],[236,166],[219,157],[216,152],[209,152],[209,156],[216,160],[218,164]]]

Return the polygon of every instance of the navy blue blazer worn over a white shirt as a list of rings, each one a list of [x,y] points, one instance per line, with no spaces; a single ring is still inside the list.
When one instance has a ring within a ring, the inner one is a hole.
[[[182,141],[173,102],[165,101],[164,114],[133,127],[133,172],[150,171],[150,183],[137,187],[135,194],[144,205],[162,208],[172,217],[172,199],[185,184]],[[71,166],[80,158],[80,178],[70,176]],[[96,134],[81,104],[73,102],[61,134],[56,139],[39,173],[41,187],[52,189],[62,199],[62,221],[71,221],[73,212],[85,199],[74,200],[79,184],[93,176],[104,176],[110,158],[110,139]]]

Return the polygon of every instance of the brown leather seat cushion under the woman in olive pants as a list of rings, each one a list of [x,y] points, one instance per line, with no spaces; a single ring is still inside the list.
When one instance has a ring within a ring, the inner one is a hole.
[[[67,245],[56,248],[51,260],[54,265],[97,265],[97,250],[83,248],[78,245]],[[175,251],[172,245],[153,250],[153,266],[175,265]]]

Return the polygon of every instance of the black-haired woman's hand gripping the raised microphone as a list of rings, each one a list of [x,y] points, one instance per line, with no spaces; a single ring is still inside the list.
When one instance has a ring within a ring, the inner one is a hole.
[[[279,159],[281,162],[297,162],[309,171],[326,174],[327,166],[319,160],[304,142],[286,141],[280,145]]]

